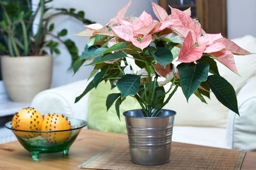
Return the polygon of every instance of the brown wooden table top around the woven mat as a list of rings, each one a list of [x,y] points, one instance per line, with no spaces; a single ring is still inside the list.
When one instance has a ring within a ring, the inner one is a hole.
[[[70,148],[68,156],[62,153],[41,154],[34,161],[18,141],[0,145],[0,169],[78,169],[77,166],[93,155],[102,152],[111,143],[128,145],[127,136],[109,132],[82,130]],[[172,143],[172,146],[205,147],[185,143]],[[242,169],[256,169],[256,152],[247,152]]]

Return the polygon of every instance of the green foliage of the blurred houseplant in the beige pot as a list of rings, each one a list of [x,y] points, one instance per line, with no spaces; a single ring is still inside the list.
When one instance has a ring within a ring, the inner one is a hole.
[[[74,8],[52,8],[48,4],[52,0],[40,0],[35,11],[31,10],[31,2],[20,3],[20,1],[1,1],[0,8],[3,13],[3,20],[0,22],[0,32],[3,34],[4,42],[0,48],[10,57],[45,55],[47,49],[51,54],[59,54],[59,43],[63,43],[72,61],[78,57],[76,44],[71,39],[65,39],[67,29],[62,29],[53,34],[54,23],[51,20],[55,17],[68,15],[80,20],[84,24],[93,22],[84,18],[83,11],[76,11]],[[33,24],[36,16],[39,17],[38,29],[33,32]],[[51,39],[46,39],[50,36]]]

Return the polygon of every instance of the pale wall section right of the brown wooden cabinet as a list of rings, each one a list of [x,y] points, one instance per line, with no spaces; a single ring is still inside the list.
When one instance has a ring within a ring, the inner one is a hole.
[[[256,1],[227,0],[228,38],[256,37]]]

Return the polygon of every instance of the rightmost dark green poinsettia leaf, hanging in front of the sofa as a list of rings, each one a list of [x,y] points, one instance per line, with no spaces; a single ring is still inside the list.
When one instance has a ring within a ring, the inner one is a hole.
[[[218,101],[239,115],[236,92],[232,85],[219,75],[211,75],[207,81]]]

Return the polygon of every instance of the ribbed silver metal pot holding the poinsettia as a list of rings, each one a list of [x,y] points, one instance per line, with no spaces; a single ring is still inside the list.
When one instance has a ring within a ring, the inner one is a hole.
[[[161,110],[159,117],[143,117],[143,110],[125,111],[131,161],[159,165],[170,161],[175,111]]]

